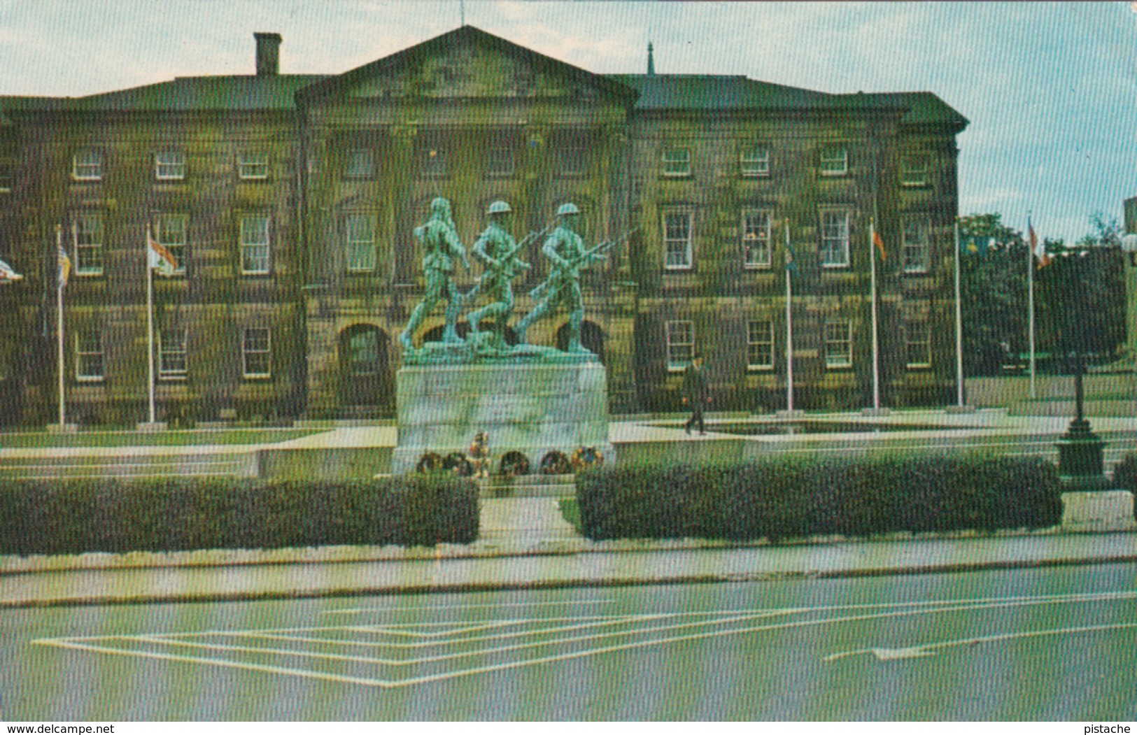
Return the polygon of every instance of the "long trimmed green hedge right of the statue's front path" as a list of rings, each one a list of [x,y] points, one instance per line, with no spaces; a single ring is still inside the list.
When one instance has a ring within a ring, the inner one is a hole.
[[[1049,462],[990,457],[771,458],[576,478],[583,532],[596,541],[1038,528],[1061,521],[1061,493]]]

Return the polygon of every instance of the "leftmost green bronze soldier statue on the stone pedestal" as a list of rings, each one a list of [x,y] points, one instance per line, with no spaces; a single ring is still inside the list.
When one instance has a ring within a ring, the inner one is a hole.
[[[415,227],[415,240],[423,247],[423,273],[426,276],[426,294],[410,314],[407,328],[399,335],[399,343],[407,352],[414,350],[412,337],[422,320],[434,310],[440,299],[446,296],[446,329],[442,342],[460,343],[462,337],[455,325],[462,311],[462,294],[454,285],[454,259],[460,258],[468,270],[466,249],[458,240],[458,233],[450,217],[450,201],[439,197],[430,203],[430,219]]]

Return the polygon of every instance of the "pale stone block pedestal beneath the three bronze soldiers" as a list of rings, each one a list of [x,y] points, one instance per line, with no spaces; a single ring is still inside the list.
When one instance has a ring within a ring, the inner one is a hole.
[[[479,431],[489,434],[491,471],[507,452],[524,454],[530,471],[550,451],[572,457],[581,446],[615,459],[607,373],[595,360],[408,365],[396,379],[395,474],[414,470],[428,452],[465,453]]]

